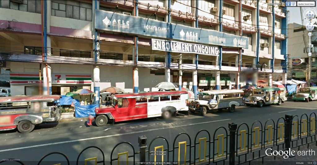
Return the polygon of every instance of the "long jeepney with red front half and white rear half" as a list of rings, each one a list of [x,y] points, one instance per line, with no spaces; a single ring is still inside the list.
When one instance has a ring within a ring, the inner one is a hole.
[[[188,114],[186,91],[159,91],[113,96],[112,104],[95,109],[97,126],[105,126],[108,120],[120,122],[162,116],[170,118],[176,112]]]

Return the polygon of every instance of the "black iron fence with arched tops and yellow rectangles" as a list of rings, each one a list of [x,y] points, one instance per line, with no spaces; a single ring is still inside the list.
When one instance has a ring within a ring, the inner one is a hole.
[[[268,119],[265,123],[253,122],[250,126],[246,123],[237,125],[229,123],[228,128],[219,127],[212,134],[202,129],[197,132],[194,138],[187,133],[178,134],[172,143],[165,137],[159,136],[148,142],[146,136],[139,136],[139,151],[130,142],[120,142],[112,149],[110,156],[105,157],[102,149],[91,146],[83,149],[77,157],[76,165],[87,164],[94,161],[94,164],[230,164],[237,165],[251,161],[262,161],[268,156],[265,151],[289,150],[315,142],[316,140],[316,114],[303,114],[301,116],[285,115],[277,121]],[[148,145],[148,146],[147,146]],[[87,158],[79,161],[82,153],[87,149],[94,148],[100,151],[102,157]],[[124,152],[119,152],[126,150]],[[129,151],[128,151],[129,150]],[[59,152],[45,155],[39,164],[46,157],[54,154],[62,155],[65,164],[70,164],[68,157]],[[276,154],[275,154],[276,155]],[[273,155],[274,156],[274,155]],[[100,160],[101,159],[101,160]],[[274,156],[275,159],[275,156]],[[3,160],[6,162],[8,160]],[[24,164],[21,161],[16,161]],[[107,163],[106,163],[107,162]]]

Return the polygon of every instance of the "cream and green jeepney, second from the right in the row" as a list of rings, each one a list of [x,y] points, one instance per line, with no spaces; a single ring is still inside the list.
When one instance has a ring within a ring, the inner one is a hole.
[[[281,88],[253,89],[252,96],[249,96],[245,99],[245,104],[247,106],[253,104],[257,105],[258,107],[263,107],[263,105],[270,104],[281,105],[281,103],[283,102],[282,99],[284,99],[280,97],[281,91],[284,90],[282,90]]]

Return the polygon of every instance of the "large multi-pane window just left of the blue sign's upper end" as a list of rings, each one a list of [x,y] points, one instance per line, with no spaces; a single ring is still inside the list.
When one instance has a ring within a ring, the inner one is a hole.
[[[52,0],[52,16],[92,21],[92,4],[73,0]]]

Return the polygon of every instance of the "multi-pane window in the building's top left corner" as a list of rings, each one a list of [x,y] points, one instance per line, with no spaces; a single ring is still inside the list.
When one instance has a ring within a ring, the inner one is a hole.
[[[27,11],[32,13],[41,13],[41,1],[23,0],[23,3],[15,3],[9,0],[0,0],[0,8]]]

